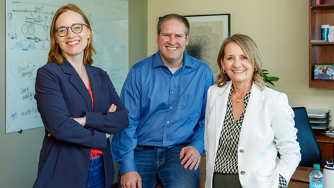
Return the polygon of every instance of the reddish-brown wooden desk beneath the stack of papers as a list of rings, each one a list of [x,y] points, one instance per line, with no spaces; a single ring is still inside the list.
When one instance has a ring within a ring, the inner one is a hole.
[[[314,132],[321,150],[321,166],[324,166],[326,165],[326,157],[334,156],[334,138],[326,136],[324,130],[314,130]]]

